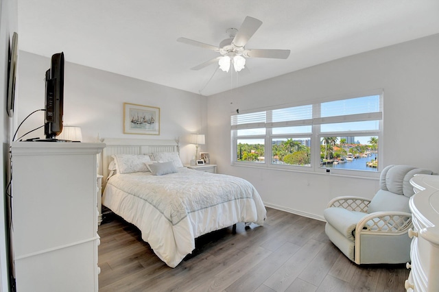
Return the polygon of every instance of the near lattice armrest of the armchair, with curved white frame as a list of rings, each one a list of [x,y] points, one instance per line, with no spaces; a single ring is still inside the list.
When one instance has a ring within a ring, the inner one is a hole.
[[[412,214],[407,212],[373,212],[363,217],[355,228],[355,239],[361,234],[400,235],[412,228]]]

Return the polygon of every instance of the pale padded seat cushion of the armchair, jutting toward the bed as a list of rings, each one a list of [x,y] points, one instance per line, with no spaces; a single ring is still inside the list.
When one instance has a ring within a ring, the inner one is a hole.
[[[350,211],[344,208],[327,208],[323,211],[323,214],[327,223],[351,241],[355,240],[357,223],[367,215],[364,212]]]

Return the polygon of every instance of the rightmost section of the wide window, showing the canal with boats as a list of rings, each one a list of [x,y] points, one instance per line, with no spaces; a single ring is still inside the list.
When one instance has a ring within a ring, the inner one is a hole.
[[[320,104],[320,167],[377,171],[381,95]]]

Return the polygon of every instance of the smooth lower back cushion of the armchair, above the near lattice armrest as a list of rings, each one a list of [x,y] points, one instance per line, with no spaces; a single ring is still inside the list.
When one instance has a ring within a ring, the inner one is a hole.
[[[368,206],[368,213],[372,212],[407,212],[410,213],[409,197],[397,195],[390,191],[379,190]]]

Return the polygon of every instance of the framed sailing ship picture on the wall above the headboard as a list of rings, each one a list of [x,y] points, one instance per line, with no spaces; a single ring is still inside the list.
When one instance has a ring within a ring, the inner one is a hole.
[[[160,108],[123,103],[123,134],[160,135]]]

